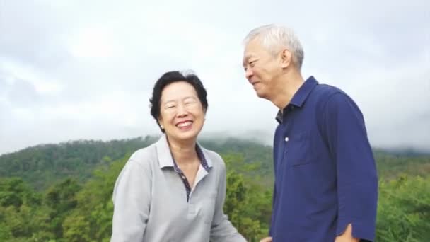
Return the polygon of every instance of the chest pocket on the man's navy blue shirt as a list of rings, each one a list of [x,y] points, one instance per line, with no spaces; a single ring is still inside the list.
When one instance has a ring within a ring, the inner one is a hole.
[[[302,166],[312,161],[312,145],[309,132],[291,134],[286,139],[284,157],[288,166]]]

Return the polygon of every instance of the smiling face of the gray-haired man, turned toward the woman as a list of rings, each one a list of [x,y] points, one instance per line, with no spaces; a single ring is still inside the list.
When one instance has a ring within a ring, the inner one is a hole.
[[[243,68],[257,96],[270,100],[276,91],[277,78],[282,73],[281,54],[274,56],[255,38],[245,47]]]

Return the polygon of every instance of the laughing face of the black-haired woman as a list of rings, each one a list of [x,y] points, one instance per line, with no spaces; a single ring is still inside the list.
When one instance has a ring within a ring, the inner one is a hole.
[[[165,86],[160,103],[158,122],[170,139],[197,139],[203,127],[205,111],[190,83],[177,81]]]

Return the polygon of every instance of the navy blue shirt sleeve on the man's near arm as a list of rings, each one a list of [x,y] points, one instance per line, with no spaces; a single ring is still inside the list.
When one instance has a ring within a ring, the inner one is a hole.
[[[348,224],[354,238],[373,241],[376,229],[378,175],[364,118],[349,96],[335,93],[325,105],[327,145],[337,168],[337,235]]]

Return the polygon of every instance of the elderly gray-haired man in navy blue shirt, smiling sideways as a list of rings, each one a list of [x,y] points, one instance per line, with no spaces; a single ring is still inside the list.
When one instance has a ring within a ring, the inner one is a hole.
[[[262,241],[373,241],[378,178],[364,117],[339,88],[305,81],[302,63],[289,28],[265,25],[245,38],[246,79],[279,108],[272,223]]]

